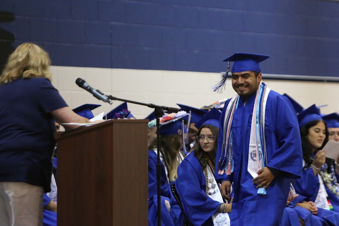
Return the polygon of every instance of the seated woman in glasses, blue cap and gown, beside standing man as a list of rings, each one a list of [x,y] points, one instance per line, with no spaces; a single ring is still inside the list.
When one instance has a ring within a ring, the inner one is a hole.
[[[197,143],[178,167],[176,189],[193,225],[230,225],[232,204],[225,203],[214,178],[220,114],[213,108],[196,123]]]

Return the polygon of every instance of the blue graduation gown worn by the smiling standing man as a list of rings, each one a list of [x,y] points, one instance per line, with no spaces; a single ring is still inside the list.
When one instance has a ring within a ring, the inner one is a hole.
[[[291,103],[286,97],[271,90],[266,103],[264,126],[267,166],[279,170],[280,177],[271,182],[266,195],[257,194],[253,177],[247,171],[255,96],[255,93],[250,96],[245,106],[240,98],[238,108],[233,114],[231,129],[234,170],[231,175],[218,174],[225,111],[230,100],[225,103],[220,118],[215,177],[220,182],[233,182],[234,199],[230,215],[236,214],[238,219],[231,221],[232,225],[279,225],[290,191],[291,178],[300,177],[302,171],[299,124]]]

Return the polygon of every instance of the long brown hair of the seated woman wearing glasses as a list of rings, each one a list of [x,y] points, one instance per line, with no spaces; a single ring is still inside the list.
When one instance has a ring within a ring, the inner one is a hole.
[[[202,125],[200,126],[199,130],[198,130],[198,136],[200,135],[200,132],[201,132],[201,129],[202,128],[208,128],[208,129],[211,129],[212,133],[213,133],[213,136],[215,136],[217,139],[214,141],[214,148],[213,148],[213,152],[214,154],[216,155],[216,152],[217,152],[217,144],[218,144],[218,133],[219,133],[219,128],[216,127],[216,126],[213,126],[213,125],[208,125],[208,124],[205,124],[205,125]],[[192,150],[194,151],[194,156],[197,157],[197,159],[199,160],[200,162],[200,165],[201,165],[201,168],[202,170],[204,168],[206,168],[207,164],[208,164],[208,160],[210,160],[210,158],[208,157],[208,155],[206,154],[206,152],[204,152],[202,149],[201,149],[201,146],[200,146],[200,142],[197,140],[197,142],[194,144]],[[191,151],[192,151],[191,150]],[[211,159],[211,161],[213,161]],[[215,159],[214,159],[215,161]],[[212,162],[214,164],[214,162]]]

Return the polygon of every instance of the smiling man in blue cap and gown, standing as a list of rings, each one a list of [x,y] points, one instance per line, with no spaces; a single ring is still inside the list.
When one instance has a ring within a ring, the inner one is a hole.
[[[225,60],[235,61],[238,95],[221,113],[216,179],[225,198],[233,182],[232,225],[279,225],[291,179],[301,176],[297,117],[286,97],[261,82],[259,62],[267,58],[237,53]]]

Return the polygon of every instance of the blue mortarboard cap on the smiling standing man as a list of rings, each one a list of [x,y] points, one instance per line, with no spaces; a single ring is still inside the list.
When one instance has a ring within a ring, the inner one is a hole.
[[[261,72],[259,63],[270,56],[252,54],[252,53],[235,53],[227,57],[224,61],[234,61],[232,72],[258,71]]]

